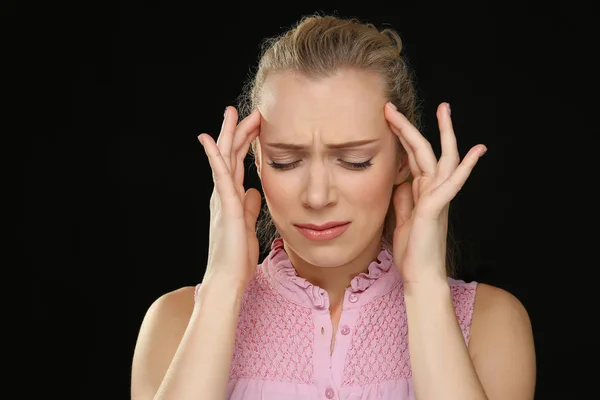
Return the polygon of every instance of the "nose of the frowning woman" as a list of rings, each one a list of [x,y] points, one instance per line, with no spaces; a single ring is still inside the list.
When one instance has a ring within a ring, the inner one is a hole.
[[[337,202],[331,171],[323,163],[314,162],[308,169],[301,200],[304,207],[316,210]]]

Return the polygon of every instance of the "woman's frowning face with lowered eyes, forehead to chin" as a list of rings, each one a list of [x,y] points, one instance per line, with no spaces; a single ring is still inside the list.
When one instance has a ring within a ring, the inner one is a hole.
[[[386,101],[381,79],[362,71],[265,82],[257,168],[277,230],[312,265],[344,265],[380,241],[401,179]]]

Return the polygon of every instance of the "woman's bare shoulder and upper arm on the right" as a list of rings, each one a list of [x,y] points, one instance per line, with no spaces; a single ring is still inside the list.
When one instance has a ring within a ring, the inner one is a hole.
[[[490,391],[530,398],[536,373],[533,333],[527,310],[513,294],[477,285],[469,353]]]

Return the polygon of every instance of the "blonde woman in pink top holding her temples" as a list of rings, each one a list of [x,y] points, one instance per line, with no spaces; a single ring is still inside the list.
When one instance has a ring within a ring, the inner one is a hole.
[[[521,303],[451,277],[448,207],[485,153],[459,160],[450,106],[438,161],[416,129],[399,36],[304,18],[270,42],[238,124],[215,143],[202,285],[152,304],[132,398],[532,399],[535,355]],[[252,148],[279,235],[257,266]]]

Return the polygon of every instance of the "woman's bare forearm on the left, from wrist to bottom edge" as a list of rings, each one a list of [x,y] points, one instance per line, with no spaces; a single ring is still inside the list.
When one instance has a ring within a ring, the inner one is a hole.
[[[226,282],[202,284],[155,400],[225,399],[242,295]]]

